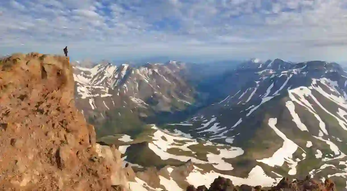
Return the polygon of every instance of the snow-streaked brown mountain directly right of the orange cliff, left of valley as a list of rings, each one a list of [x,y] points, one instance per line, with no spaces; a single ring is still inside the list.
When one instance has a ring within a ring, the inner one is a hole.
[[[139,118],[182,110],[194,102],[194,90],[179,76],[183,68],[184,63],[176,61],[137,68],[107,62],[75,66],[76,105],[99,127],[99,135],[141,126]]]

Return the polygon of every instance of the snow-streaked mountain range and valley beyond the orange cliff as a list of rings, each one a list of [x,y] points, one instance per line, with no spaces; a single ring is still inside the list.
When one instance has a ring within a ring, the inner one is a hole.
[[[184,178],[171,167],[159,181],[138,176],[147,190],[209,187],[218,176],[266,187],[307,174],[346,190],[346,76],[318,60],[74,67],[76,106],[100,144],[116,145],[137,174],[194,166]]]

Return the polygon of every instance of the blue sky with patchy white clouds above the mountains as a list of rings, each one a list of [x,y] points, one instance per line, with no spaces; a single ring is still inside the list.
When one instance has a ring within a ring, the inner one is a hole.
[[[0,55],[347,60],[346,0],[3,0]]]

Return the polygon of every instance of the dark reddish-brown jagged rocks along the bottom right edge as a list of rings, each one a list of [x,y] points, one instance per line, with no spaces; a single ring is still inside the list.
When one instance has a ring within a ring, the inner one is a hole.
[[[207,189],[205,186],[198,186],[195,188],[193,185],[189,185],[186,191],[335,191],[335,184],[326,179],[324,183],[313,180],[310,176],[306,176],[304,180],[289,181],[287,177],[283,177],[282,180],[271,188],[263,189],[261,186],[249,186],[242,184],[240,186],[234,186],[232,181],[228,178],[218,177]]]

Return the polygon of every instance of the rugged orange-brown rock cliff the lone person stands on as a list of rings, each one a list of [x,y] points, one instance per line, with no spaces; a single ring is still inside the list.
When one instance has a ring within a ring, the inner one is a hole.
[[[0,61],[0,189],[111,190],[125,184],[120,153],[95,144],[94,128],[73,95],[66,57],[30,53]]]

